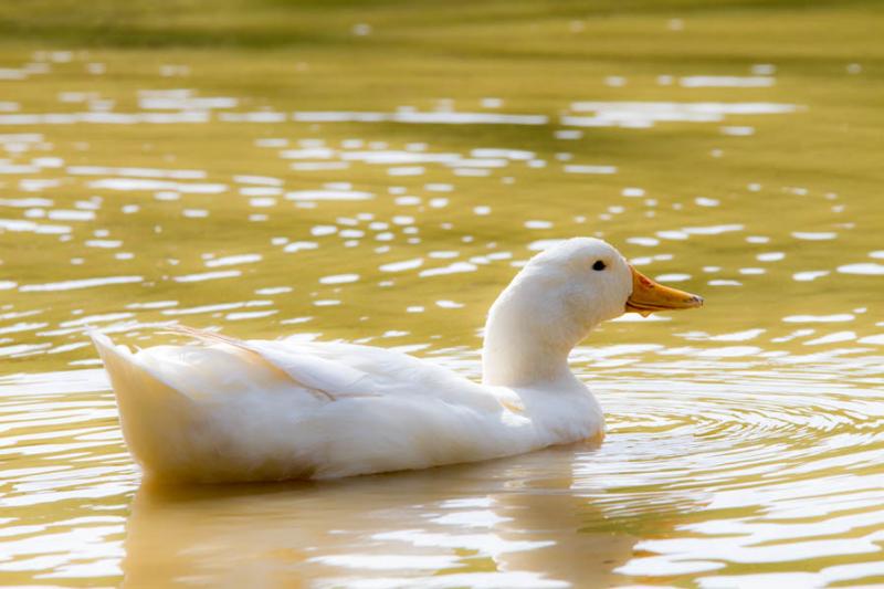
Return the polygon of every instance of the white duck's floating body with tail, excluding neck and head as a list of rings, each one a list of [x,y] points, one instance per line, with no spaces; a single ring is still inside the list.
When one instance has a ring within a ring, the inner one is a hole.
[[[95,344],[127,445],[166,480],[423,469],[604,431],[594,397],[567,377],[556,387],[480,385],[406,354],[347,344],[219,340],[136,354],[106,336]]]

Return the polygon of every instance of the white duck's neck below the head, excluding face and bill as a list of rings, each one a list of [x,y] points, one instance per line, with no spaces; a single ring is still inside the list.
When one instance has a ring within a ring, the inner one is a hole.
[[[504,292],[494,303],[485,324],[482,381],[504,387],[544,386],[576,377],[568,367],[571,349],[591,329],[555,309],[520,304]]]

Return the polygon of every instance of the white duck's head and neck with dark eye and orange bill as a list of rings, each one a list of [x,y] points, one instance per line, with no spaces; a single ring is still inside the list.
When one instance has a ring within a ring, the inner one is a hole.
[[[702,297],[644,276],[602,240],[564,241],[535,255],[492,305],[484,381],[517,386],[557,378],[571,348],[601,322],[702,305]]]

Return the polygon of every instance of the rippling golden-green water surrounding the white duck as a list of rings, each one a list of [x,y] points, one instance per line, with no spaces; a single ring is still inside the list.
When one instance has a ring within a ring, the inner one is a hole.
[[[884,582],[875,2],[0,7],[0,581]],[[599,235],[701,312],[573,355],[600,449],[139,487],[85,333],[183,323],[478,377]]]

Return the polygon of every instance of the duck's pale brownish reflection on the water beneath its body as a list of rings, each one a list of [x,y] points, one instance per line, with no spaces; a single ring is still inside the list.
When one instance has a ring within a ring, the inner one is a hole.
[[[124,585],[610,586],[638,538],[591,497],[602,491],[575,482],[573,465],[594,452],[340,481],[146,483],[127,524]]]

